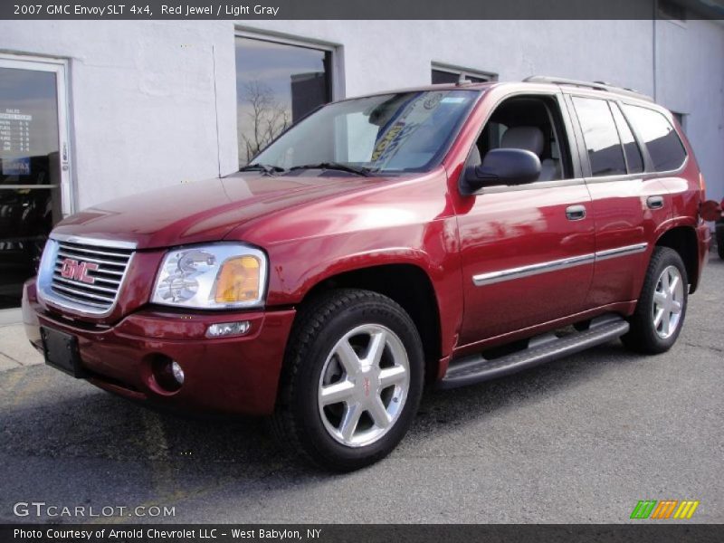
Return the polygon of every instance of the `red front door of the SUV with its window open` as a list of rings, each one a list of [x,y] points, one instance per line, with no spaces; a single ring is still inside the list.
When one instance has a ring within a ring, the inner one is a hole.
[[[458,214],[464,296],[460,346],[586,309],[595,230],[591,196],[580,171],[573,169],[579,167],[566,136],[566,114],[557,95],[516,97],[502,101],[481,131],[477,147],[484,157],[500,144],[511,147],[505,131],[512,127],[537,127],[545,141],[535,150],[558,173],[526,185],[486,186]]]

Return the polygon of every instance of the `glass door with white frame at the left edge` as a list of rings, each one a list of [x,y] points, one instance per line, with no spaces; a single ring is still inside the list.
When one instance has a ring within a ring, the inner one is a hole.
[[[0,310],[20,305],[70,211],[65,65],[0,57]]]

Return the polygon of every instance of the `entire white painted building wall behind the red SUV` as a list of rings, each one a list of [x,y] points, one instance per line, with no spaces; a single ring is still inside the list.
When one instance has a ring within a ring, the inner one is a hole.
[[[429,83],[431,62],[492,71],[501,81],[552,74],[653,94],[655,32],[658,101],[687,114],[710,196],[724,196],[721,24],[256,21],[252,27],[337,45],[348,96]],[[70,59],[72,171],[82,208],[236,168],[233,35],[227,21],[3,21],[0,51]]]

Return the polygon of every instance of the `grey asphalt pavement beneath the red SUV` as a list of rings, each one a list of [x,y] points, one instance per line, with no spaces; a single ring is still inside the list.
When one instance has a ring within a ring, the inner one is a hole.
[[[344,475],[281,451],[263,421],[158,414],[0,347],[0,522],[616,523],[638,500],[699,500],[692,521],[724,522],[722,288],[712,255],[666,354],[614,341],[430,390],[395,452]]]

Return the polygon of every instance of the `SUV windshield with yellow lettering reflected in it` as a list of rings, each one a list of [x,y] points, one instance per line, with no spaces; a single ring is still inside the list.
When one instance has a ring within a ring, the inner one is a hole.
[[[252,159],[288,170],[347,165],[373,172],[424,171],[443,158],[477,90],[422,90],[329,104]]]

